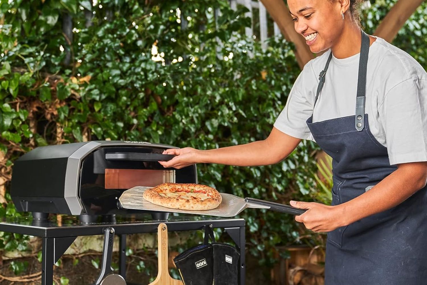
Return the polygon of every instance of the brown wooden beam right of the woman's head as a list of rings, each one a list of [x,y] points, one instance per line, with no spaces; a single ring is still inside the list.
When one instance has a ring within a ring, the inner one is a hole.
[[[392,42],[399,30],[424,0],[399,0],[381,21],[374,35]]]

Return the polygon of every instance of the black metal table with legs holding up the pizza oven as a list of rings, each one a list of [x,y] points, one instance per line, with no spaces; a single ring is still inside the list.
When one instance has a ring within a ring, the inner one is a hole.
[[[78,236],[104,235],[106,227],[113,227],[120,241],[119,274],[126,279],[126,235],[157,232],[158,225],[166,223],[168,232],[200,230],[206,225],[223,228],[240,250],[239,284],[245,284],[245,220],[224,219],[196,215],[175,216],[170,214],[167,220],[153,220],[150,214],[117,216],[109,222],[80,223],[63,220],[35,220],[32,218],[4,220],[0,222],[1,232],[38,236],[43,239],[41,284],[52,285],[53,265],[61,258]]]

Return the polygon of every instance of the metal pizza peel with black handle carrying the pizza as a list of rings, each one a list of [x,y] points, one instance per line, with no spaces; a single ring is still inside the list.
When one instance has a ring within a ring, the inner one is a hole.
[[[133,210],[146,210],[153,212],[175,212],[185,214],[200,214],[217,217],[234,217],[246,208],[256,209],[269,209],[276,212],[282,212],[287,214],[300,215],[306,210],[294,208],[292,206],[269,202],[254,198],[241,198],[233,194],[219,193],[222,196],[222,202],[218,207],[212,210],[205,211],[192,211],[192,210],[181,210],[171,209],[163,206],[158,206],[148,202],[143,198],[143,193],[146,189],[151,187],[135,186],[123,192],[119,198],[119,207]]]

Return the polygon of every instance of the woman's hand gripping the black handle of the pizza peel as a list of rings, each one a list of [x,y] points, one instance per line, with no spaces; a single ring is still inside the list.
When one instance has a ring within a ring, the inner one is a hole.
[[[346,226],[345,215],[339,206],[328,206],[314,202],[290,201],[292,207],[307,209],[304,214],[295,216],[295,220],[304,223],[313,232],[330,232],[340,226]]]

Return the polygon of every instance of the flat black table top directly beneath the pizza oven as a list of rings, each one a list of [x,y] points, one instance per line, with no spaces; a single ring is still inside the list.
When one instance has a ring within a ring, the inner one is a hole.
[[[111,220],[111,219],[110,219]],[[43,238],[61,238],[83,235],[103,235],[103,230],[111,226],[116,235],[157,232],[159,223],[166,223],[168,231],[187,231],[202,229],[206,224],[214,228],[233,228],[245,226],[241,218],[222,218],[189,214],[171,213],[167,220],[154,220],[151,214],[116,215],[111,221],[82,223],[76,216],[51,215],[48,220],[36,220],[32,217],[20,217],[14,220],[0,220],[0,231],[13,232],[23,235],[33,235]]]

